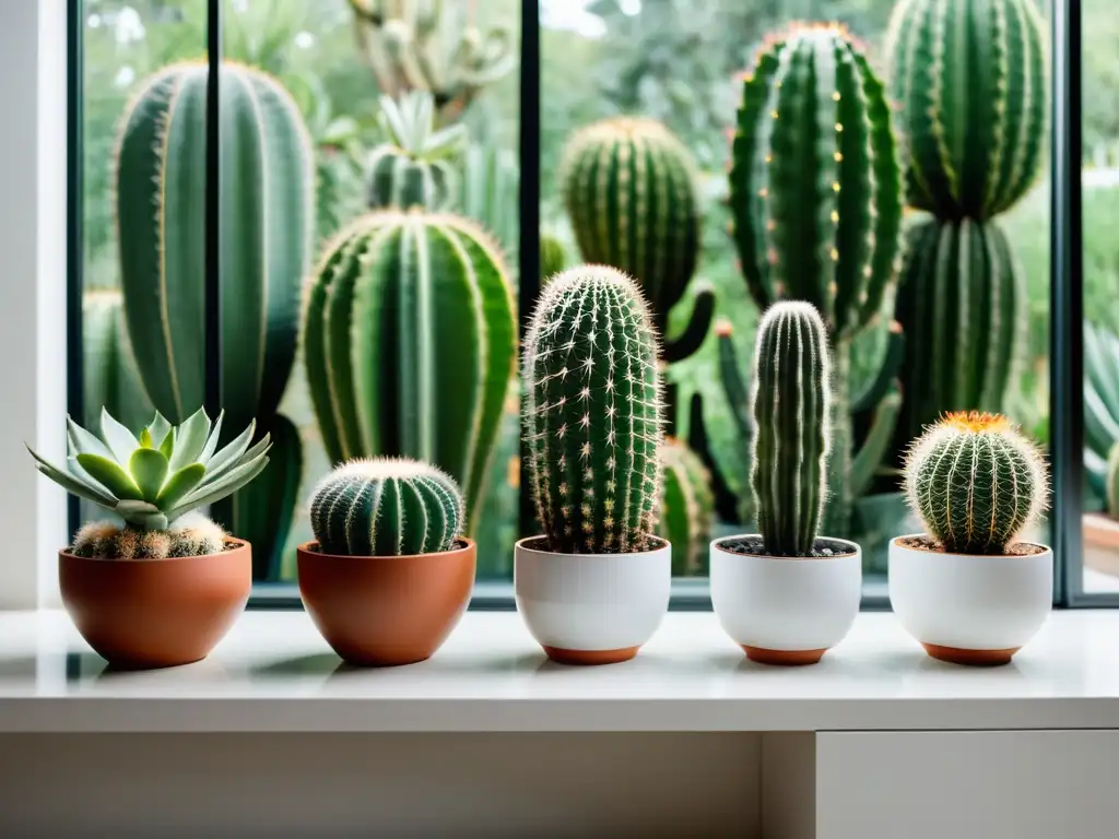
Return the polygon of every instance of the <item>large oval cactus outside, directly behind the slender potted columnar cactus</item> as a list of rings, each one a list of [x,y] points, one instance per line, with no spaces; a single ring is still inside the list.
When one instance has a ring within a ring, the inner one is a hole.
[[[751,295],[819,310],[833,340],[877,317],[900,267],[902,186],[882,83],[846,32],[771,37],[742,79],[731,168]]]

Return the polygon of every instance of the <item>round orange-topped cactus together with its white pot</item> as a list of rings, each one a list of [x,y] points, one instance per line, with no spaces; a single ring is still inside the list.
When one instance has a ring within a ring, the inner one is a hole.
[[[1041,453],[999,414],[948,414],[910,446],[905,489],[927,532],[890,543],[899,620],[933,658],[1007,663],[1053,601],[1053,552],[1017,540],[1045,508]]]

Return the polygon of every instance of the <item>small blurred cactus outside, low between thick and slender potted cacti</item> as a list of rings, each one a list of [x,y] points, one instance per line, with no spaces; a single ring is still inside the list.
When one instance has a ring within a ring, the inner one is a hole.
[[[664,488],[657,516],[657,535],[673,546],[673,576],[705,576],[715,498],[711,475],[687,444],[666,437],[660,460]]]

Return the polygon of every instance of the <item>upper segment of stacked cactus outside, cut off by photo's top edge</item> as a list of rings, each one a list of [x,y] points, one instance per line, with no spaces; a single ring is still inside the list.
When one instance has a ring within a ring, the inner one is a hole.
[[[901,0],[886,37],[909,202],[986,220],[1044,163],[1047,36],[1033,0]]]

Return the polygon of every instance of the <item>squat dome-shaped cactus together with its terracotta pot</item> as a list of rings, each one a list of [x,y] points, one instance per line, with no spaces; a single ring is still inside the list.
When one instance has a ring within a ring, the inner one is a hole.
[[[297,555],[303,605],[335,652],[366,667],[430,658],[470,602],[464,526],[459,484],[422,461],[356,459],[328,474]]]

